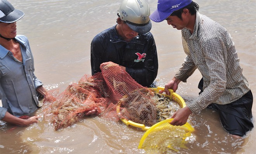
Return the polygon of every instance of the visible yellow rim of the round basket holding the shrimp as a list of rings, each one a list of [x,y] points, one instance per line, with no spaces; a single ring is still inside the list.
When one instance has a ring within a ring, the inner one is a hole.
[[[153,89],[156,93],[159,93],[159,91],[164,90],[164,87],[156,87],[156,88],[150,88]],[[177,102],[181,108],[184,108],[186,106],[185,101],[182,99],[182,97],[180,97],[180,95],[176,94],[175,92],[173,92],[172,89],[168,89],[170,92],[170,95],[166,95],[163,94],[164,96],[168,97],[169,99],[172,99],[173,101]],[[116,108],[117,113],[120,113],[120,106],[118,105]],[[125,125],[131,125],[133,127],[138,127],[141,128],[142,130],[146,131],[148,130],[150,127],[145,126],[144,124],[140,124],[140,123],[136,123],[133,122],[131,120],[126,120],[124,118],[120,119],[123,123],[125,123]]]

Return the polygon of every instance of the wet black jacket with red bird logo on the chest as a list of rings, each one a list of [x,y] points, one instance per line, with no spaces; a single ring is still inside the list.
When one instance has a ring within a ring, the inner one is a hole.
[[[101,72],[100,64],[114,62],[126,67],[126,72],[142,86],[149,87],[157,76],[158,59],[153,35],[138,34],[124,41],[113,26],[97,34],[91,43],[92,75]]]

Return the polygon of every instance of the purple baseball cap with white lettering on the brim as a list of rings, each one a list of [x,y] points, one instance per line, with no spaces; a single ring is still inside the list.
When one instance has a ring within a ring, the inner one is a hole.
[[[157,10],[149,18],[154,22],[162,22],[168,18],[174,11],[186,7],[192,0],[158,0]]]

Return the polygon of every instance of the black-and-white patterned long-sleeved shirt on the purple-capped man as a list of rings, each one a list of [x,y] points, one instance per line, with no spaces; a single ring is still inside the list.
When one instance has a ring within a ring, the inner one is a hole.
[[[249,91],[234,43],[223,26],[197,12],[193,34],[182,29],[182,44],[187,57],[175,77],[187,82],[198,68],[204,80],[203,92],[187,104],[193,113],[211,103],[232,103]]]

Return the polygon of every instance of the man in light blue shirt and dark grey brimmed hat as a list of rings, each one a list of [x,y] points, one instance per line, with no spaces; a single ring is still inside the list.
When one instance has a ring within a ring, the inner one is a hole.
[[[17,35],[16,21],[23,16],[7,0],[0,0],[0,120],[20,126],[38,122],[38,116],[18,117],[30,115],[42,106],[38,97],[46,93],[34,74],[28,38]]]

